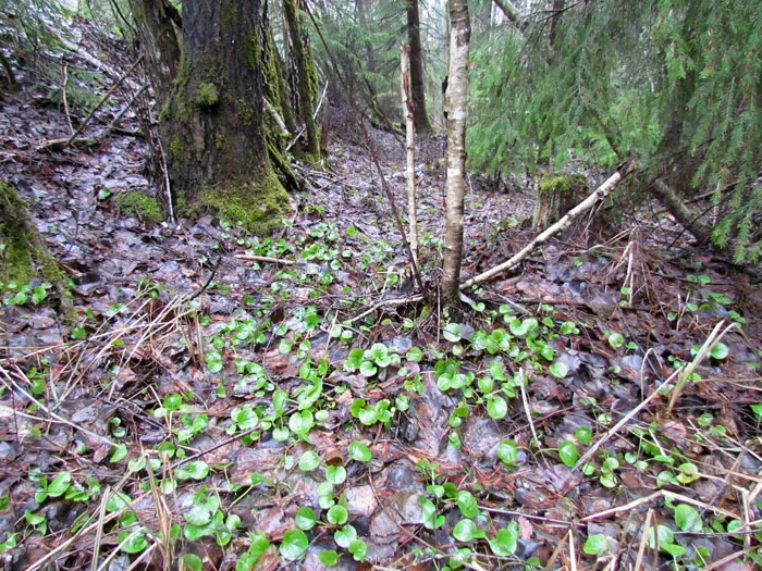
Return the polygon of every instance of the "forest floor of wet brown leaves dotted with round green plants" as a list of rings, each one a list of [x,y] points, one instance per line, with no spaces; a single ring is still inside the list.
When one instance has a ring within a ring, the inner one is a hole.
[[[127,99],[59,151],[48,91],[0,101],[0,177],[74,306],[3,294],[5,569],[762,564],[760,287],[657,204],[576,224],[456,319],[441,136],[418,160],[426,305],[351,128],[261,239],[120,206],[156,195],[135,115],[103,134]],[[403,208],[403,146],[373,135]],[[470,275],[533,237],[529,189],[488,187],[469,181]]]

